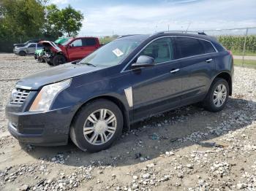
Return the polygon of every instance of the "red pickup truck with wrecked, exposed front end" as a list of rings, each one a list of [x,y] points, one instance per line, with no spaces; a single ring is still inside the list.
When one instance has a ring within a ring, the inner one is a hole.
[[[63,44],[41,41],[45,49],[43,58],[50,66],[57,66],[62,63],[77,61],[97,50],[101,45],[95,37],[70,38]]]

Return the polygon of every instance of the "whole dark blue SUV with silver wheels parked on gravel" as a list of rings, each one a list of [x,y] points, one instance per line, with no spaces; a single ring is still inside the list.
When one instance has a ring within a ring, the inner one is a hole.
[[[20,79],[6,107],[19,141],[107,149],[133,122],[201,102],[218,112],[232,93],[233,57],[213,37],[122,36],[81,61]]]

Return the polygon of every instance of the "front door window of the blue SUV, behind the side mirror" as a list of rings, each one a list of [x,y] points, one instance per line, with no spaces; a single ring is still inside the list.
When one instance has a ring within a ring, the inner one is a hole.
[[[173,52],[173,40],[171,38],[162,38],[148,44],[148,46],[140,52],[140,55],[148,55],[154,58],[155,63],[162,63],[173,60]]]

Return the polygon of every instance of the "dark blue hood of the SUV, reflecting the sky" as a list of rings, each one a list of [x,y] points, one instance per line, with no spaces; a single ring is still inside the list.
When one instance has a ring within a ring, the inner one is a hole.
[[[65,63],[63,65],[39,71],[36,74],[32,74],[28,77],[20,79],[17,82],[17,86],[26,86],[31,87],[31,90],[38,90],[44,85],[76,77],[81,74],[88,74],[100,69],[102,68],[87,66],[86,64]]]

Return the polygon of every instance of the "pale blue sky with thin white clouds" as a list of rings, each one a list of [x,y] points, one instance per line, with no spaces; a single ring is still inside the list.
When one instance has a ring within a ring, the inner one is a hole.
[[[256,0],[51,0],[83,13],[81,36],[256,27]],[[190,23],[190,24],[189,24]]]

